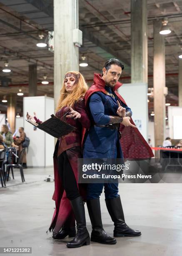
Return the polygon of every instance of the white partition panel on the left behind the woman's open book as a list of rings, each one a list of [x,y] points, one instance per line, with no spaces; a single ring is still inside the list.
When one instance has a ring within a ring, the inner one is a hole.
[[[53,164],[54,138],[46,136],[46,133],[38,128],[34,130],[34,126],[25,120],[27,112],[30,115],[36,112],[37,117],[41,121],[45,121],[54,113],[54,99],[45,96],[23,98],[24,129],[27,137],[30,138],[27,165],[51,166]]]

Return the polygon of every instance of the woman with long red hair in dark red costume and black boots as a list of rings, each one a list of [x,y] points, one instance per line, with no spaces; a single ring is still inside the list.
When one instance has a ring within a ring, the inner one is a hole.
[[[82,158],[82,127],[87,129],[90,127],[83,99],[87,89],[82,74],[75,71],[67,72],[56,108],[57,118],[76,128],[57,140],[53,156],[55,192],[52,199],[55,200],[56,208],[49,230],[53,230],[55,239],[75,236],[72,241],[67,243],[68,248],[90,244],[82,201],[85,190],[77,181],[77,159]],[[28,118],[31,117],[27,113]],[[36,122],[40,122],[36,116],[34,119]]]

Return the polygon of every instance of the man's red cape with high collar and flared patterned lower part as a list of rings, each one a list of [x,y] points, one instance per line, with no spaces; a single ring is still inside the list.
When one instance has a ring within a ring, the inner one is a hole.
[[[117,97],[126,104],[125,100],[116,91],[120,86],[122,86],[122,84],[120,82],[117,82],[113,89]],[[103,92],[107,94],[107,91],[105,90],[105,81],[102,79],[101,74],[94,74],[94,82],[85,94],[86,107],[89,97],[94,92]],[[130,122],[135,125],[132,118]],[[120,143],[122,153],[125,159],[147,159],[154,156],[154,154],[152,153],[152,149],[137,128],[132,128],[131,126],[126,127],[120,124],[120,131],[122,133]]]

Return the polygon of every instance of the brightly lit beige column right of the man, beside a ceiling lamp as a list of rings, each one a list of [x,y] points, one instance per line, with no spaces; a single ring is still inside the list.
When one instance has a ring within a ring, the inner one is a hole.
[[[162,145],[165,136],[165,43],[164,36],[159,31],[161,20],[154,21],[154,125],[155,146]]]

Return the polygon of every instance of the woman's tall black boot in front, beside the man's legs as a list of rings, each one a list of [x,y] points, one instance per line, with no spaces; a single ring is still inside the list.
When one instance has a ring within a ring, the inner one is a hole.
[[[77,233],[75,238],[67,243],[67,247],[77,248],[83,245],[89,245],[90,236],[86,228],[85,208],[82,197],[77,197],[74,200],[71,200],[70,203],[77,223]]]

